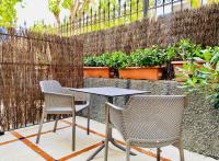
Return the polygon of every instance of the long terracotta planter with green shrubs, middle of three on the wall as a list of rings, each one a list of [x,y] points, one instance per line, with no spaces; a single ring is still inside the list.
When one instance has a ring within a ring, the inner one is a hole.
[[[112,67],[118,68],[122,79],[159,80],[162,78],[163,60],[162,51],[154,46],[150,49],[137,49],[129,56],[114,53]]]

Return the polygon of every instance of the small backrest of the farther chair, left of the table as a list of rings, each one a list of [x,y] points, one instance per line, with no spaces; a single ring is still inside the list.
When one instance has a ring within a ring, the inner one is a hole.
[[[61,93],[62,92],[62,88],[60,85],[60,83],[56,80],[44,80],[39,82],[41,85],[41,90],[43,93],[45,92],[57,92],[57,93]]]

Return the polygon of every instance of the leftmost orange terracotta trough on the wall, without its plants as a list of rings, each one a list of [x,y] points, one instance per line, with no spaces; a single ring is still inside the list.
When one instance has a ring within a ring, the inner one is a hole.
[[[110,78],[111,70],[108,67],[83,67],[84,78]]]

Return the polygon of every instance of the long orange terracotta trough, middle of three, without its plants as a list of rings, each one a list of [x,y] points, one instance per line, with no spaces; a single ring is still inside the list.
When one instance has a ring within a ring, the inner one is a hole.
[[[146,79],[159,80],[162,78],[163,67],[127,67],[119,69],[118,74],[122,79]]]

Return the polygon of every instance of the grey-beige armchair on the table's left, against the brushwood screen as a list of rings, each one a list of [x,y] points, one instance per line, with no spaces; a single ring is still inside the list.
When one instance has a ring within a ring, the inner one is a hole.
[[[41,90],[44,94],[45,106],[43,108],[42,119],[38,128],[36,143],[39,142],[44,118],[47,114],[71,114],[72,115],[72,150],[76,148],[76,114],[77,112],[88,108],[88,135],[90,133],[90,95],[80,92],[71,92],[62,88],[58,81],[45,80],[39,82]],[[83,104],[77,104],[77,101]],[[56,131],[58,117],[56,117],[54,133]]]

